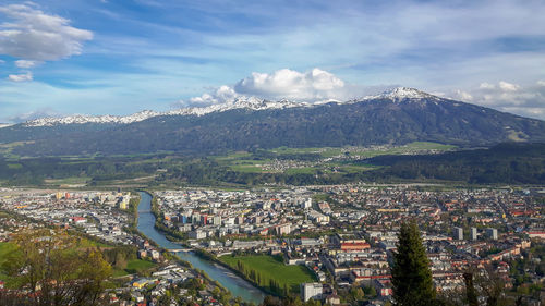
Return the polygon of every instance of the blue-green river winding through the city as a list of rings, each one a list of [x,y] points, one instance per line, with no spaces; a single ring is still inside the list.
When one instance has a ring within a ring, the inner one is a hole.
[[[155,229],[155,216],[152,213],[152,196],[143,192],[140,193],[140,196],[138,231],[166,249],[184,248],[179,244],[170,242],[162,233]],[[243,301],[253,302],[255,304],[262,303],[265,298],[265,294],[259,289],[218,264],[202,259],[192,252],[177,252],[175,255],[178,255],[181,259],[191,262],[193,267],[205,271],[208,277],[227,287],[233,296],[240,296]]]

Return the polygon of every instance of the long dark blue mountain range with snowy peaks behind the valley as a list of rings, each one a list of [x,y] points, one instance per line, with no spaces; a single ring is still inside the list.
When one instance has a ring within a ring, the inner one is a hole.
[[[0,127],[21,156],[210,154],[255,148],[437,142],[461,147],[545,142],[545,122],[399,87],[315,103],[239,97],[226,103],[129,117],[46,118]]]

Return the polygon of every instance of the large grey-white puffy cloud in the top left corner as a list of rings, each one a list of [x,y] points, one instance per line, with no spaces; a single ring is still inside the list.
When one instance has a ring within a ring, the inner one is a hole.
[[[11,22],[0,24],[0,53],[32,61],[52,61],[82,52],[93,33],[70,26],[70,20],[27,4],[0,7]]]

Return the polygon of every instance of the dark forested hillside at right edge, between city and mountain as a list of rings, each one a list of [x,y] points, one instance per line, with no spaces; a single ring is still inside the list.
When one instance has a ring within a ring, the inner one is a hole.
[[[473,184],[545,182],[545,144],[501,144],[489,149],[428,156],[384,156],[367,160],[388,166],[374,171],[382,178],[432,179]]]

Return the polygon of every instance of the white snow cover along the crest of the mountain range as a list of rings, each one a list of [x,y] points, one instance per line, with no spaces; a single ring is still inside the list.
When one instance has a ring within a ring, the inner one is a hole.
[[[259,99],[256,97],[244,97],[240,96],[233,100],[204,107],[190,107],[181,108],[177,110],[171,110],[167,112],[155,112],[150,110],[141,111],[133,113],[131,115],[69,115],[63,118],[40,118],[24,123],[25,126],[55,126],[55,125],[66,125],[66,124],[85,124],[85,123],[104,123],[104,124],[129,124],[138,121],[144,121],[146,119],[157,117],[157,115],[205,115],[211,112],[223,112],[233,109],[249,109],[249,110],[266,110],[266,109],[287,109],[287,108],[302,108],[302,107],[313,107],[320,106],[324,103],[354,103],[364,102],[367,100],[375,99],[389,99],[396,102],[407,100],[407,99],[437,99],[440,98],[429,95],[427,93],[409,88],[409,87],[398,87],[391,90],[384,91],[383,94],[375,96],[367,96],[361,99],[354,99],[350,101],[339,101],[334,99],[322,100],[316,102],[303,102],[303,101],[269,101],[265,99]]]

